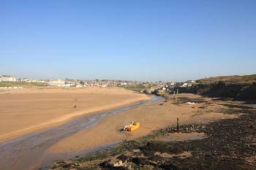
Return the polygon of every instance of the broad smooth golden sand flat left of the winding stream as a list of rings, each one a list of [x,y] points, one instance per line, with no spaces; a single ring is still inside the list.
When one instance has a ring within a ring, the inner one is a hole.
[[[122,88],[0,90],[0,142],[60,125],[74,117],[148,99]]]

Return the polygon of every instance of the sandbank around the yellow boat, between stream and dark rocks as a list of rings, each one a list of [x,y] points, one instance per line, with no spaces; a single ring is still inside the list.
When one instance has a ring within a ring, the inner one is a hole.
[[[192,94],[179,94],[181,97],[200,98]],[[211,103],[211,107],[218,107],[216,101],[204,98]],[[140,107],[129,109],[117,115],[108,115],[102,122],[93,127],[73,134],[54,144],[48,152],[72,152],[99,147],[104,144],[121,140],[138,139],[157,128],[175,124],[177,117],[179,123],[206,123],[211,120],[234,117],[221,113],[205,112],[205,103],[202,104],[171,104],[170,101],[160,106],[159,102],[144,104]],[[121,132],[120,129],[131,120],[139,121],[140,128],[133,132]]]

